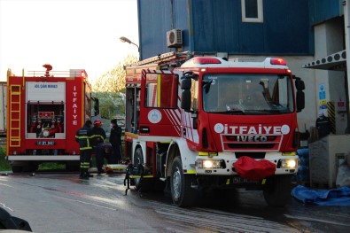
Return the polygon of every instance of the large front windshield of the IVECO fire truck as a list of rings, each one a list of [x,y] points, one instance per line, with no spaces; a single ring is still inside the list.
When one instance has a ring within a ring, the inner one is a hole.
[[[294,111],[288,75],[206,74],[202,82],[207,113],[283,114]]]

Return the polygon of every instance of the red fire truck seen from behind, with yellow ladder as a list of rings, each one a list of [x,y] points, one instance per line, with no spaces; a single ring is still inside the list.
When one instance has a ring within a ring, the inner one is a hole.
[[[12,171],[34,172],[43,162],[79,167],[75,132],[98,113],[85,70],[7,72],[7,159]],[[91,106],[95,105],[95,109]],[[91,113],[95,112],[95,113]]]

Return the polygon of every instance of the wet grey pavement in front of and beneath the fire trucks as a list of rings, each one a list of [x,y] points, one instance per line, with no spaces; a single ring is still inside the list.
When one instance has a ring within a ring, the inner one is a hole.
[[[167,193],[125,196],[124,175],[0,175],[0,205],[35,232],[348,232],[350,206],[267,206],[259,190],[214,193],[180,208]],[[79,223],[80,222],[80,223]]]

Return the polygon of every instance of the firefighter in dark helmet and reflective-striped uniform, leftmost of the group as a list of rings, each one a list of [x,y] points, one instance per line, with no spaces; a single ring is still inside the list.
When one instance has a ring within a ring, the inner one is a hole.
[[[92,147],[90,145],[91,120],[86,120],[82,128],[76,132],[75,141],[79,143],[81,158],[80,158],[80,178],[89,180],[89,164],[91,160]]]

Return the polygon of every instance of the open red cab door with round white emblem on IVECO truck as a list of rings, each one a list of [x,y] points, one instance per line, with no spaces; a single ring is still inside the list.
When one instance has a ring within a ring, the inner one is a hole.
[[[180,136],[181,72],[143,70],[141,80],[139,136]],[[148,141],[162,141],[151,138]]]

